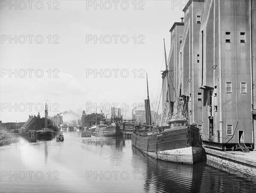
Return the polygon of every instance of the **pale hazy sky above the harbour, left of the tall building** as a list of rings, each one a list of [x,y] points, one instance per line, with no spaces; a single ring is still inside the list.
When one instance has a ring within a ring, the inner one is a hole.
[[[82,111],[110,117],[111,107],[131,119],[144,109],[146,73],[160,114],[163,38],[168,57],[169,30],[186,2],[0,0],[0,120],[44,116],[45,102],[64,122]]]

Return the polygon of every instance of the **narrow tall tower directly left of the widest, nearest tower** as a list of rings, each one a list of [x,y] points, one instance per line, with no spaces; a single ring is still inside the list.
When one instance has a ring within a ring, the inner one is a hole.
[[[204,0],[189,1],[184,12],[184,33],[180,46],[179,61],[182,76],[180,79],[180,96],[183,105],[187,105],[189,122],[201,128],[202,122],[202,90],[198,87],[200,60],[198,37],[200,34],[201,20],[204,15]]]

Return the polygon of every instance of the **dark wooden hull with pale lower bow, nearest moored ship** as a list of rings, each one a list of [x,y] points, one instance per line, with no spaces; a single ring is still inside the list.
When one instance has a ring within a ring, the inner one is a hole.
[[[151,136],[133,133],[132,144],[148,156],[169,162],[193,165],[201,161],[202,144],[199,129],[165,131]]]

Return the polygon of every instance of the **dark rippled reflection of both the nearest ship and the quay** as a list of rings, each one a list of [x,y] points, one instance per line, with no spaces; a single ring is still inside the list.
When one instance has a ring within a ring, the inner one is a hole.
[[[212,167],[208,162],[183,165],[146,157],[132,148],[131,165],[140,177],[144,177],[145,192],[254,192],[255,182],[250,178],[230,176],[221,166]],[[217,169],[218,168],[218,169]],[[248,181],[247,181],[248,180]],[[242,182],[243,181],[243,182]]]

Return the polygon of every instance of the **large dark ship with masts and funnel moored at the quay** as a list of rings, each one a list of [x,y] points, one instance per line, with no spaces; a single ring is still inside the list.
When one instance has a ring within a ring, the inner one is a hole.
[[[164,45],[165,50],[165,45]],[[169,89],[169,71],[166,61],[165,78],[167,83],[167,94]],[[148,77],[147,77],[147,92],[148,92]],[[176,99],[177,100],[177,99]],[[200,139],[199,129],[189,124],[186,105],[183,109],[179,109],[183,114],[180,117],[173,117],[170,112],[173,108],[169,99],[169,116],[165,119],[165,123],[159,126],[151,125],[150,103],[149,97],[145,99],[146,110],[146,127],[144,130],[135,130],[132,135],[132,145],[148,156],[155,157],[169,162],[178,162],[186,164],[194,164],[199,162],[202,156],[202,142]]]

